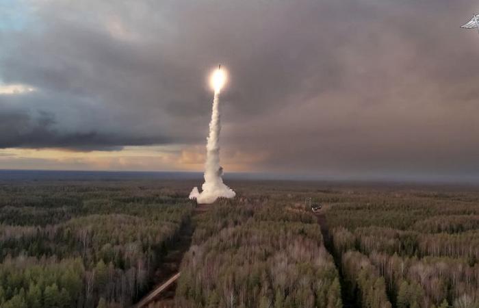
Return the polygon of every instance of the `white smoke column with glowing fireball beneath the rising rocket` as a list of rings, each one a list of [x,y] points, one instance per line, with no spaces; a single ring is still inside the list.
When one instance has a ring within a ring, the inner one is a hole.
[[[220,92],[225,82],[226,74],[219,66],[211,75],[211,86],[215,95],[206,144],[205,183],[201,186],[202,192],[196,187],[190,192],[190,199],[196,199],[200,204],[213,203],[217,198],[233,198],[236,195],[231,188],[224,185],[223,168],[220,166]]]

